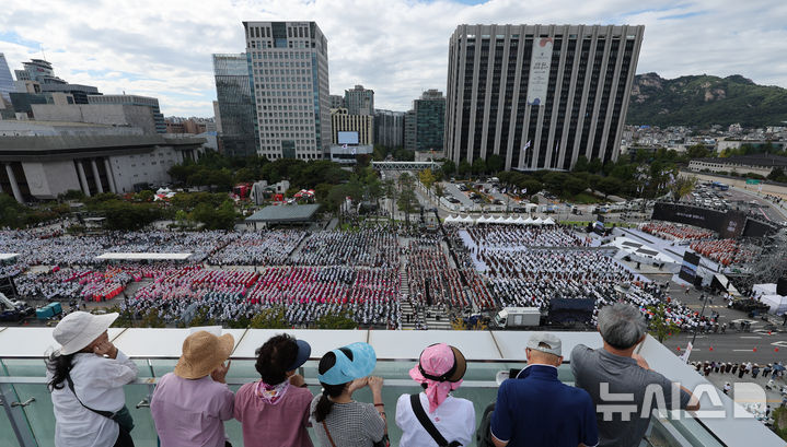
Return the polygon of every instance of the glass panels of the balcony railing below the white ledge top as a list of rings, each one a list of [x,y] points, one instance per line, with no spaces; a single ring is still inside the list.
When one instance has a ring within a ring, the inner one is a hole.
[[[132,437],[139,447],[157,447],[155,427],[147,407],[157,378],[173,370],[176,358],[135,358],[139,366],[139,378],[125,387],[126,404],[134,416]],[[385,379],[383,402],[389,414],[389,434],[393,446],[398,445],[402,435],[394,421],[395,405],[403,393],[419,392],[420,387],[409,379],[408,370],[413,361],[380,361],[373,375]],[[308,362],[301,373],[306,377],[309,389],[313,395],[320,392],[316,376],[317,362]],[[476,412],[476,427],[485,408],[494,402],[497,396],[497,384],[494,380],[499,370],[522,367],[521,363],[510,362],[468,362],[465,381],[455,392],[455,397],[472,401]],[[0,412],[0,447],[54,447],[55,416],[51,399],[44,378],[42,358],[3,358],[0,360],[0,390],[2,391],[4,411]],[[574,377],[568,364],[558,368],[558,377],[572,384]],[[236,391],[241,385],[256,380],[258,375],[254,368],[254,360],[239,358],[232,361],[227,380],[230,388]],[[371,402],[368,389],[356,392],[359,401]],[[34,400],[31,400],[34,399]],[[12,407],[13,405],[13,407]],[[224,423],[227,435],[234,446],[242,446],[241,425],[238,421]],[[310,431],[311,432],[311,431]],[[8,435],[7,435],[8,434]],[[313,432],[312,439],[316,440]],[[653,416],[646,440],[651,446],[722,446],[707,428],[691,416],[669,420]],[[473,443],[472,445],[475,445]]]

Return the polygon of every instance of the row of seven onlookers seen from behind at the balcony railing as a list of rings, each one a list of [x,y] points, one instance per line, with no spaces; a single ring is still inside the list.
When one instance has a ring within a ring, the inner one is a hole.
[[[107,329],[117,317],[76,311],[53,332],[59,349],[48,355],[46,365],[58,446],[135,445],[124,387],[137,378],[139,368],[109,341]],[[317,365],[320,389],[313,395],[298,374],[312,354],[310,343],[275,334],[255,351],[259,378],[233,391],[227,377],[235,339],[199,330],[185,339],[174,369],[158,379],[150,414],[163,446],[231,447],[224,421],[232,419],[240,422],[243,445],[250,447],[311,447],[309,427],[322,447],[383,446],[390,443],[391,417],[401,430],[402,447],[461,446],[474,438],[484,446],[635,447],[647,436],[653,410],[701,408],[692,390],[679,390],[680,384],[652,370],[635,353],[646,331],[636,307],[604,307],[599,314],[603,346],[578,344],[571,350],[574,386],[558,376],[564,361],[560,338],[534,332],[522,342],[526,366],[500,379],[494,405],[482,415],[476,434],[478,402],[453,396],[467,372],[467,361],[455,346],[425,346],[406,374],[419,392],[401,395],[395,409],[386,412],[384,380],[371,376],[378,355],[369,343],[327,351]],[[355,395],[367,387],[371,402]],[[620,398],[605,392],[610,387],[630,396],[622,410],[615,400]]]

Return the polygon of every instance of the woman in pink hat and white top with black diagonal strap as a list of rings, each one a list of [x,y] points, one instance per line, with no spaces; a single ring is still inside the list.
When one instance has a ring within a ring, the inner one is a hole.
[[[400,447],[467,446],[475,432],[473,402],[454,398],[467,365],[462,352],[445,343],[428,346],[409,372],[424,392],[402,395],[396,402]]]

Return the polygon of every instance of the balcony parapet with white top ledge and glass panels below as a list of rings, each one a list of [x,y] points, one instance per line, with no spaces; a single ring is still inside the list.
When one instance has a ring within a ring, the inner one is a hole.
[[[55,419],[51,399],[45,384],[45,352],[54,346],[51,328],[0,328],[0,393],[3,410],[0,412],[0,447],[53,446]],[[254,368],[254,351],[268,338],[281,330],[228,329],[235,339],[232,366],[227,376],[231,389],[259,379]],[[522,331],[364,331],[364,330],[287,330],[286,332],[308,341],[312,357],[301,374],[306,378],[312,393],[320,392],[316,367],[327,351],[352,342],[369,342],[377,352],[378,364],[372,373],[385,379],[383,402],[389,414],[389,433],[393,446],[402,435],[394,422],[397,398],[415,393],[420,387],[408,376],[421,350],[429,344],[447,342],[458,346],[467,358],[467,373],[454,396],[468,399],[475,405],[476,427],[484,409],[497,395],[495,376],[499,370],[521,368],[524,365],[524,343],[530,332]],[[181,355],[183,340],[188,329],[123,329],[111,328],[109,338],[139,366],[139,378],[125,387],[126,404],[134,416],[132,435],[137,446],[157,446],[155,427],[150,415],[149,402],[157,380],[173,370]],[[555,332],[563,341],[564,365],[558,377],[572,384],[569,367],[571,349],[579,343],[598,348],[598,332]],[[20,343],[24,340],[24,343]],[[668,378],[680,381],[688,389],[713,386],[692,367],[655,339],[648,337],[639,354],[652,368]],[[718,391],[718,390],[717,390]],[[661,414],[655,412],[651,426],[645,437],[646,446],[745,446],[756,442],[757,447],[784,446],[761,422],[752,417],[734,417],[741,411],[739,403],[718,391],[718,401],[708,395],[701,398],[702,412]],[[358,391],[359,401],[371,402],[368,389]],[[714,397],[715,399],[715,397]],[[716,413],[714,413],[716,412]],[[720,413],[718,413],[720,412]],[[745,412],[742,412],[745,413]],[[673,419],[673,416],[679,416]],[[225,422],[230,442],[240,446],[240,424]],[[315,440],[313,432],[312,439]],[[473,444],[475,445],[475,443]]]

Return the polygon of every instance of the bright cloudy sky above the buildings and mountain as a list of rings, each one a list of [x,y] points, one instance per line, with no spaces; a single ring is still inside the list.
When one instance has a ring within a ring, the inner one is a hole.
[[[159,98],[165,116],[213,116],[211,55],[243,52],[242,21],[314,21],[328,39],[332,94],[361,84],[407,110],[445,91],[460,24],[645,25],[637,73],[742,74],[787,87],[784,0],[3,0],[0,52],[104,94]]]

